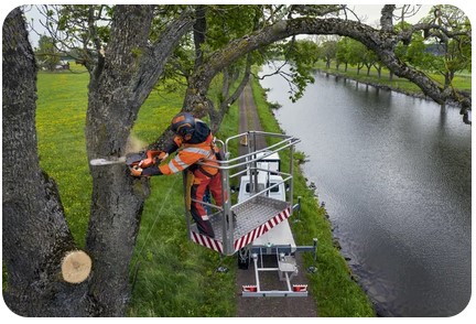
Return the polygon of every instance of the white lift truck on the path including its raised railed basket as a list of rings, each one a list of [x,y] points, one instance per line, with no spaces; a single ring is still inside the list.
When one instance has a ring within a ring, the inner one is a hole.
[[[248,153],[232,158],[232,141],[242,140],[244,137]],[[256,143],[260,137],[261,140],[271,139],[273,144],[257,149]],[[310,251],[315,258],[317,249],[316,239],[311,246],[296,246],[288,220],[293,213],[300,213],[300,198],[296,204],[293,202],[293,153],[299,141],[291,136],[262,131],[248,131],[218,141],[224,152],[224,159],[218,166],[224,203],[223,206],[217,206],[212,202],[199,202],[210,210],[214,238],[198,233],[191,220],[185,198],[186,223],[192,241],[225,256],[237,255],[240,269],[248,269],[252,261],[256,282],[242,287],[242,296],[307,295],[305,284],[291,283],[299,271],[295,252]],[[289,156],[286,172],[282,170],[279,154]],[[209,161],[201,163],[207,165],[207,162]],[[238,191],[234,183],[238,183]],[[270,256],[275,259],[271,267],[264,264],[264,259]],[[278,272],[283,288],[262,289],[260,276],[263,272]]]

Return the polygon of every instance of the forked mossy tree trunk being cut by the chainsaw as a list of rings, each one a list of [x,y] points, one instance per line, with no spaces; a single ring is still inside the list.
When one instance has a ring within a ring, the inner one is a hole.
[[[150,47],[152,19],[153,6],[116,7],[104,68],[93,75],[89,84],[89,160],[126,154],[139,108],[193,22],[187,15],[181,17]],[[90,166],[90,173],[93,199],[86,246],[95,268],[89,294],[96,315],[122,316],[129,300],[129,263],[149,185],[147,180],[130,176],[123,163]]]

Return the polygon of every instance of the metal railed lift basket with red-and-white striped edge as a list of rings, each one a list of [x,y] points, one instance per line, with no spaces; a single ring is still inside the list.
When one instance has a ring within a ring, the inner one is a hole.
[[[239,141],[244,137],[248,139],[248,153],[241,156],[230,158],[230,142],[234,140]],[[259,137],[263,137],[264,139],[271,138],[274,143],[257,150],[256,142]],[[196,225],[192,224],[190,210],[186,207],[186,198],[185,215],[191,240],[221,255],[231,256],[291,216],[293,210],[293,153],[294,147],[300,140],[280,133],[248,131],[230,137],[225,142],[218,142],[221,144],[221,150],[225,155],[225,159],[218,161],[219,165],[216,166],[219,169],[221,175],[224,203],[223,206],[217,206],[212,203],[198,202],[203,204],[206,209],[210,210],[209,219],[215,231],[215,237],[210,238],[199,234]],[[263,190],[260,190],[258,186],[257,171],[259,171],[259,168],[257,163],[277,152],[289,154],[289,171],[275,172],[282,176],[282,182],[286,184],[286,201],[274,199],[267,194],[273,187],[280,185],[280,183]],[[209,162],[210,161],[204,160],[199,163],[215,166]],[[234,203],[230,182],[232,179],[239,179],[242,175],[250,176],[250,183],[251,186],[253,186],[252,195],[246,201]],[[185,173],[184,193],[186,193]]]

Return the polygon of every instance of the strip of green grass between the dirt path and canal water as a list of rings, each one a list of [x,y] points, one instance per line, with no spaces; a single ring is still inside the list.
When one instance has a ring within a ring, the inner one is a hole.
[[[253,97],[258,106],[261,125],[266,131],[282,132],[274,119],[266,93],[257,80],[252,83]],[[284,156],[282,156],[284,158]],[[289,161],[283,160],[283,170]],[[301,222],[293,223],[293,234],[298,245],[310,245],[318,239],[317,272],[309,274],[310,288],[317,302],[320,316],[375,316],[371,303],[361,288],[351,280],[350,270],[333,244],[331,224],[325,210],[320,208],[314,192],[299,165],[294,168],[294,201],[301,196]],[[315,266],[312,256],[303,253],[305,267]]]

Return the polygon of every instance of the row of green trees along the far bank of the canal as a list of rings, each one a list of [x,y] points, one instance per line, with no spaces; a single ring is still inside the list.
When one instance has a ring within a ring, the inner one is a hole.
[[[436,19],[437,18],[437,19]],[[468,18],[459,9],[452,6],[439,6],[431,12],[423,22],[436,22],[455,32],[470,30]],[[401,23],[400,29],[409,29],[411,25]],[[451,86],[455,74],[472,71],[472,39],[464,35],[457,39],[429,37],[428,31],[423,30],[420,34],[412,35],[409,42],[400,42],[396,46],[397,57],[414,68],[426,73],[442,75],[444,78],[443,87]],[[379,56],[364,45],[348,36],[324,36],[321,39],[307,39],[296,41],[300,53],[306,53],[306,60],[299,57],[299,64],[315,64],[318,61],[325,62],[325,67],[331,68],[334,63],[336,69],[348,66],[357,68],[357,74],[366,69],[367,75],[374,67],[378,77],[381,77],[385,64]],[[390,71],[389,78],[392,79],[393,73]]]

